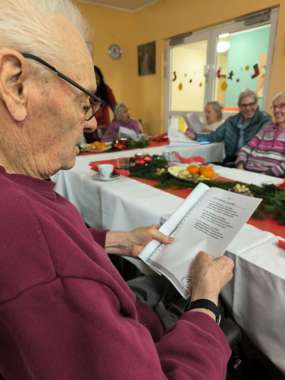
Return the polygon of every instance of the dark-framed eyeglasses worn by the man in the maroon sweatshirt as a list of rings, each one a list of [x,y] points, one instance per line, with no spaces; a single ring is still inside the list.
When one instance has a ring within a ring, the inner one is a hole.
[[[65,81],[72,84],[74,87],[78,88],[79,90],[81,90],[82,92],[86,93],[86,95],[89,96],[90,105],[86,105],[84,107],[84,115],[85,115],[86,121],[92,119],[92,117],[95,116],[97,114],[97,112],[99,111],[99,109],[101,107],[103,107],[103,105],[105,104],[105,101],[97,98],[97,96],[92,94],[92,92],[89,92],[88,90],[84,89],[84,87],[80,86],[80,84],[74,82],[72,79],[68,78],[68,76],[62,74],[59,70],[56,70],[52,65],[50,65],[49,63],[47,63],[43,59],[38,58],[32,54],[27,54],[27,53],[21,53],[21,54],[25,58],[34,59],[35,61],[38,61],[38,62],[42,63],[43,65],[47,66],[52,71],[55,71],[55,73],[57,73],[57,75],[60,78],[64,79]]]

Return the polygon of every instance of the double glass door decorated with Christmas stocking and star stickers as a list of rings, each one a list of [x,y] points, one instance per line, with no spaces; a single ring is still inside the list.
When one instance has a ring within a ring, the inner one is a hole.
[[[256,91],[266,111],[278,13],[272,9],[264,18],[249,15],[195,32],[176,46],[166,41],[166,131],[169,125],[184,131],[188,112],[203,122],[208,101],[224,105],[224,119],[237,113],[246,87]]]

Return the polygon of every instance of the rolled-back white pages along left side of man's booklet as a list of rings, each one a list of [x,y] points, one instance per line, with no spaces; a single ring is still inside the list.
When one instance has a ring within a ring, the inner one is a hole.
[[[195,189],[184,199],[173,214],[166,220],[158,231],[165,235],[170,235],[177,228],[179,223],[188,214],[189,210],[199,201],[199,199],[209,190],[209,186],[198,184]],[[173,244],[173,243],[172,243]],[[157,240],[149,242],[138,254],[142,261],[146,261],[149,256],[161,245]]]

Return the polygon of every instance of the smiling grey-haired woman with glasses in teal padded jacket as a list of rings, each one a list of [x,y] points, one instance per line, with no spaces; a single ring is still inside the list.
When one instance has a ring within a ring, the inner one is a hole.
[[[237,153],[260,130],[263,124],[272,121],[269,114],[260,111],[256,93],[245,89],[239,94],[239,113],[230,116],[220,127],[210,133],[192,133],[189,130],[185,135],[196,141],[225,141],[226,158],[223,165],[236,161]]]

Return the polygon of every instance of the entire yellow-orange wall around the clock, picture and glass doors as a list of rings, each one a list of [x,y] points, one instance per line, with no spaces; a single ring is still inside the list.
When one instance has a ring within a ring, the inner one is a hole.
[[[171,36],[221,24],[245,14],[280,6],[274,59],[271,70],[268,111],[272,97],[285,89],[285,2],[282,0],[160,0],[135,13],[87,3],[77,3],[95,27],[95,63],[102,69],[117,101],[125,101],[133,117],[142,119],[147,132],[160,133],[164,128],[165,40]],[[137,46],[156,41],[156,74],[139,77]],[[122,47],[122,58],[112,61],[108,46]]]

